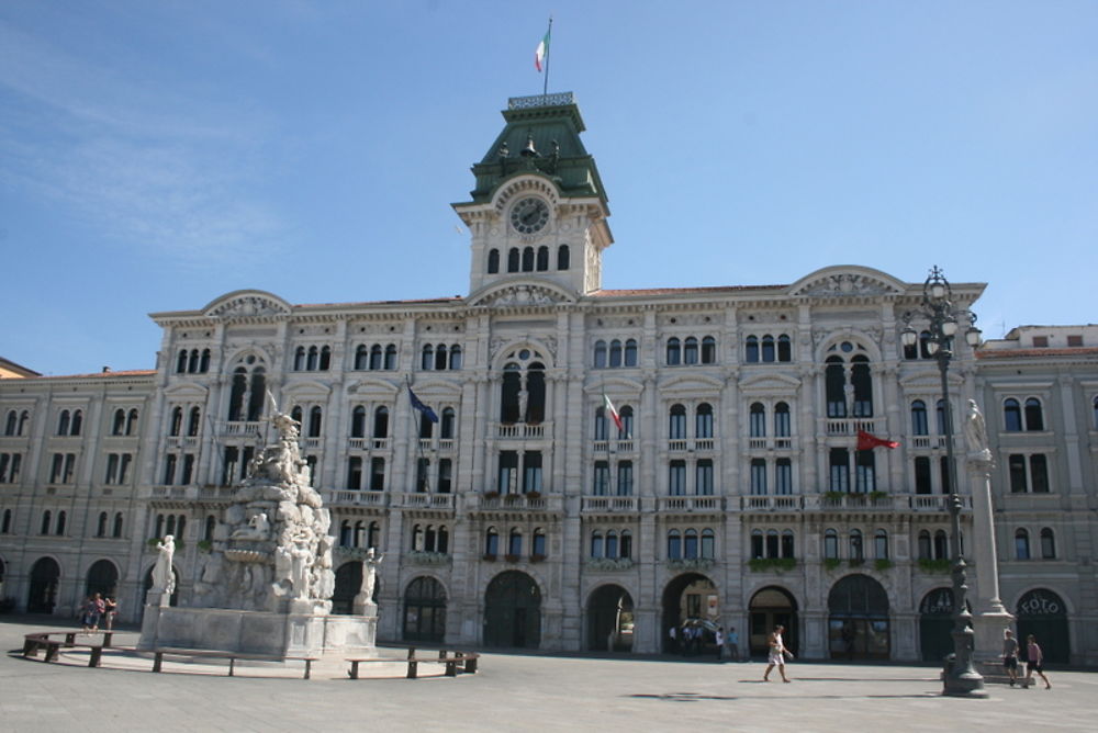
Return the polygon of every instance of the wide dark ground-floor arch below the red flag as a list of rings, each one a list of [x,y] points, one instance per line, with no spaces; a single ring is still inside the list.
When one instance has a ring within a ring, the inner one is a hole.
[[[848,575],[828,594],[828,652],[832,659],[887,659],[888,594],[869,575]]]

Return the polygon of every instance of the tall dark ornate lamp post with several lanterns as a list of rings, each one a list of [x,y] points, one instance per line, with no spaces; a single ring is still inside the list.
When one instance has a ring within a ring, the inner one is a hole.
[[[973,666],[972,614],[968,612],[968,586],[965,578],[964,555],[961,552],[961,497],[957,495],[956,458],[953,449],[953,408],[950,405],[949,369],[953,358],[953,337],[959,329],[959,318],[968,322],[965,331],[965,342],[971,347],[979,346],[979,329],[976,328],[976,314],[953,305],[953,290],[942,270],[935,264],[930,275],[922,284],[922,304],[919,311],[908,313],[904,319],[907,326],[900,334],[900,340],[906,347],[919,342],[919,335],[910,326],[912,318],[921,317],[929,322],[930,337],[926,341],[927,352],[938,362],[938,371],[942,377],[942,410],[945,422],[945,460],[946,478],[950,483],[950,541],[953,545],[953,655],[952,663],[945,662],[943,678],[943,695],[956,697],[986,697],[984,678]],[[994,572],[994,568],[991,568]]]

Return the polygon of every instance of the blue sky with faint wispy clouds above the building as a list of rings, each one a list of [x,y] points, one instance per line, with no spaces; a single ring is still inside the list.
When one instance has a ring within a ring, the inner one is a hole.
[[[468,291],[450,210],[512,95],[573,91],[606,287],[856,263],[1098,320],[1098,2],[10,0],[0,356],[152,368],[158,311]],[[673,252],[673,256],[671,253]]]

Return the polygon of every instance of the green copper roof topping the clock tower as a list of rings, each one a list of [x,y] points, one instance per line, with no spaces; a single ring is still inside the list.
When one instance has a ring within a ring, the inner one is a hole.
[[[606,202],[595,159],[580,139],[584,131],[572,92],[513,97],[503,112],[503,132],[472,168],[473,203],[492,198],[503,181],[529,172],[550,178],[561,196],[598,196]],[[524,155],[533,142],[537,155]]]

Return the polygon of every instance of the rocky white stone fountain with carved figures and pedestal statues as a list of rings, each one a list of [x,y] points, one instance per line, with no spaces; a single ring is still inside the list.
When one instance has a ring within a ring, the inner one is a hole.
[[[268,393],[276,442],[256,452],[248,477],[217,525],[186,608],[149,591],[139,647],[181,646],[269,654],[371,649],[377,607],[332,616],[332,517],[310,486],[299,424]],[[167,538],[166,538],[167,539]],[[170,576],[170,574],[169,574]]]

